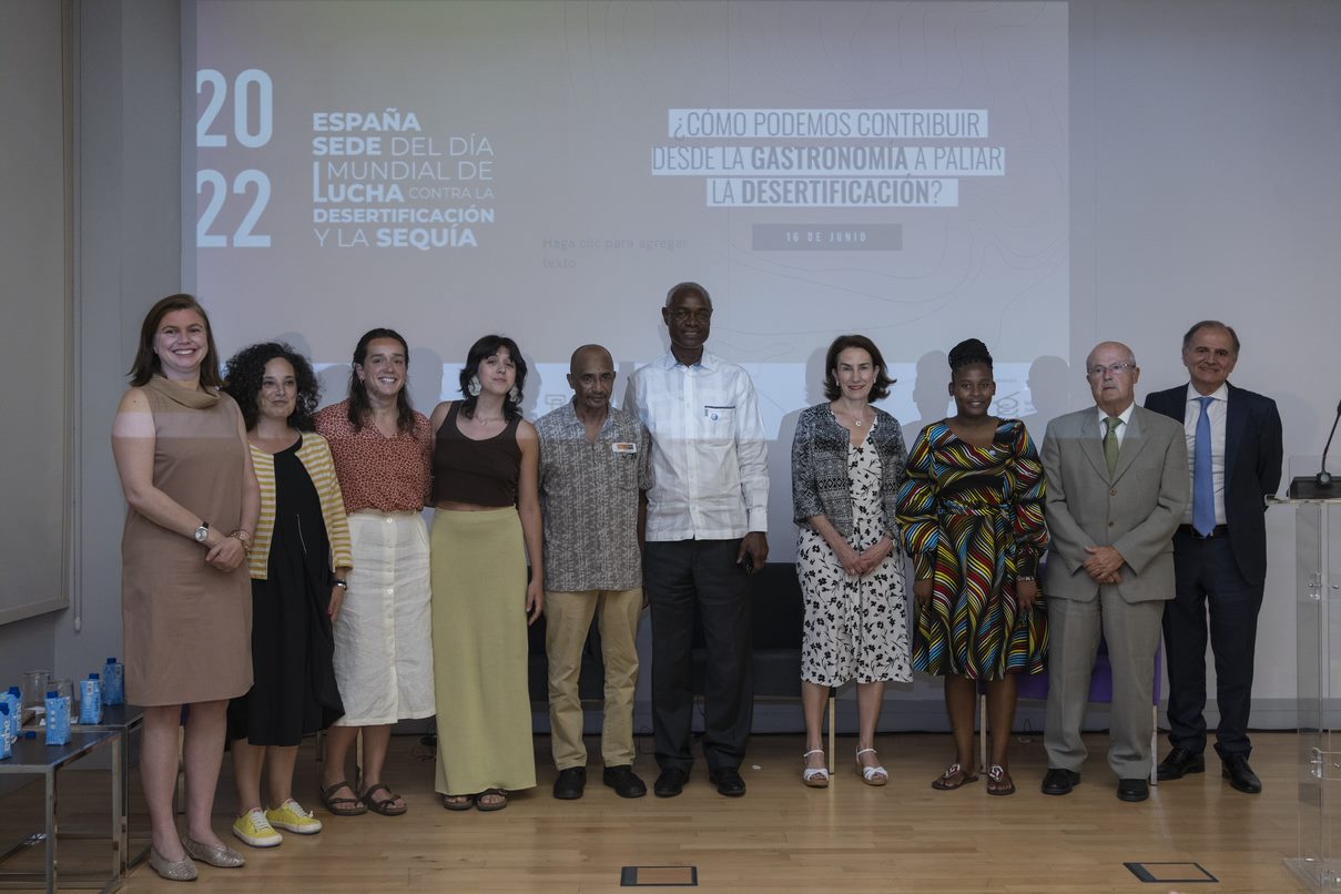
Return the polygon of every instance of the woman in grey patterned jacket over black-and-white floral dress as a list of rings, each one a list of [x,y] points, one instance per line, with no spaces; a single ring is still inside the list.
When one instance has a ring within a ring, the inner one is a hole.
[[[894,497],[904,478],[898,421],[870,405],[889,394],[880,348],[841,335],[825,361],[825,397],[802,411],[791,444],[797,576],[806,603],[801,698],[806,753],[801,780],[829,784],[819,747],[830,686],[857,681],[857,772],[868,785],[889,773],[876,755],[885,684],[912,680],[902,554]]]

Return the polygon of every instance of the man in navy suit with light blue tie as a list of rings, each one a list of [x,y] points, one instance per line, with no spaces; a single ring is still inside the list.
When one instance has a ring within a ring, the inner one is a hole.
[[[1183,336],[1185,386],[1155,391],[1147,409],[1183,422],[1192,473],[1192,505],[1173,535],[1176,595],[1164,610],[1169,673],[1169,743],[1160,780],[1206,769],[1206,639],[1210,610],[1215,697],[1220,725],[1215,751],[1222,775],[1255,795],[1262,780],[1248,765],[1252,653],[1266,582],[1266,500],[1281,485],[1281,416],[1275,401],[1228,383],[1239,336],[1203,320]]]

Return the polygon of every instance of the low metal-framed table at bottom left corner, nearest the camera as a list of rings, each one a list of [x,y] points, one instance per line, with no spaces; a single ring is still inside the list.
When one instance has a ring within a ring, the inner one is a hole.
[[[122,739],[115,730],[71,732],[70,741],[64,745],[47,745],[39,739],[19,739],[13,743],[13,755],[0,760],[0,775],[30,775],[44,776],[47,780],[47,828],[46,828],[46,882],[48,894],[56,890],[56,773],[101,748],[111,748],[111,874],[106,882],[102,878],[75,879],[78,887],[99,887],[102,891],[115,890],[122,879],[122,850],[121,828],[122,820]],[[30,839],[31,840],[31,839]],[[8,859],[24,846],[23,842],[0,854],[0,862]],[[0,871],[0,886],[3,887],[31,887],[42,873],[36,871]],[[20,885],[27,882],[27,885]],[[80,883],[82,882],[82,883]],[[90,883],[91,882],[91,883]],[[68,885],[68,883],[67,883]]]

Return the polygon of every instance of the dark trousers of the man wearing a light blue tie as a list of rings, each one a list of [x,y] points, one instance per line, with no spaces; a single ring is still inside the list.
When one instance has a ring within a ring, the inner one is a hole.
[[[1239,574],[1226,536],[1199,540],[1179,528],[1173,535],[1176,592],[1164,607],[1164,649],[1169,673],[1169,743],[1193,755],[1206,751],[1206,642],[1210,615],[1215,654],[1215,701],[1220,724],[1215,749],[1248,755],[1252,706],[1252,657],[1262,586]]]

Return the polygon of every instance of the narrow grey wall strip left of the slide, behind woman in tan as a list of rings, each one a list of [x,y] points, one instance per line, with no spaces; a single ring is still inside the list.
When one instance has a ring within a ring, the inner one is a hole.
[[[76,7],[79,501],[75,603],[55,662],[84,676],[121,646],[125,501],[110,433],[145,311],[180,291],[181,63],[173,0]]]

